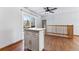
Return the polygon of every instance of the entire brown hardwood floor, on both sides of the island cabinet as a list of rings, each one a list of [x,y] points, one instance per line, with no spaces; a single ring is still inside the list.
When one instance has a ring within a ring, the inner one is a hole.
[[[22,51],[22,44],[23,41],[19,41],[0,49],[0,51]],[[25,51],[29,50],[27,49]],[[46,35],[45,49],[43,51],[79,51],[79,37],[74,36],[73,39],[67,39],[63,37]]]

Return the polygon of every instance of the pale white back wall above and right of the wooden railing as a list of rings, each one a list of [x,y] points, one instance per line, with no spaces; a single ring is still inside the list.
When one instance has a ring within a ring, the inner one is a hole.
[[[62,12],[62,13],[46,16],[45,18],[47,19],[47,24],[48,25],[73,24],[74,25],[74,34],[79,35],[79,10],[77,10],[75,8],[72,8],[72,9],[73,9],[73,11],[67,10],[67,12]]]

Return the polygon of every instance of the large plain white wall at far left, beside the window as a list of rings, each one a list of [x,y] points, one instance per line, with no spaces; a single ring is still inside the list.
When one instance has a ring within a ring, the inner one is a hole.
[[[22,22],[20,8],[0,8],[0,48],[23,39]]]

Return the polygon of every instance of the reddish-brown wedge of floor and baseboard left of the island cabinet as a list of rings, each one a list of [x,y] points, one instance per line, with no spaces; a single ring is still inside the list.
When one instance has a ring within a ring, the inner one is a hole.
[[[19,40],[15,43],[12,43],[8,46],[5,46],[0,49],[0,51],[21,51],[23,47],[23,40]]]

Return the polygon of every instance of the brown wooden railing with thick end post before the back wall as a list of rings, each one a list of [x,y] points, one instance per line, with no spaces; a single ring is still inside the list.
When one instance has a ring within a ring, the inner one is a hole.
[[[51,33],[62,34],[68,36],[68,38],[73,38],[73,25],[47,25],[47,29],[49,29],[49,26],[52,28],[51,30],[55,30],[55,32]],[[64,33],[64,28],[66,28],[65,30],[67,31],[67,34]],[[58,30],[62,30],[63,33],[58,33]]]

